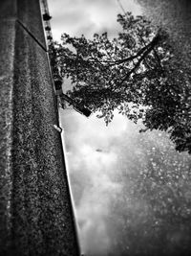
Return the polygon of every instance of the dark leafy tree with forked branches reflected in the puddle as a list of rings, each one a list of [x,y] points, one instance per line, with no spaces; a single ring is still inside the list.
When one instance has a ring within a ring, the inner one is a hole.
[[[167,130],[178,151],[191,153],[190,72],[185,72],[164,29],[131,12],[117,15],[117,38],[62,35],[57,65],[73,84],[68,95],[82,101],[106,125],[114,110],[145,129]]]

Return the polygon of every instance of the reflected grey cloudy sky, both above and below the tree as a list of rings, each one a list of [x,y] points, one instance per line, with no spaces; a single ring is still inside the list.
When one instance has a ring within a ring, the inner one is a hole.
[[[117,35],[121,12],[117,0],[48,3],[56,40],[63,33]],[[121,3],[125,11],[141,13],[133,1]],[[106,127],[96,115],[87,119],[73,109],[60,109],[60,122],[84,253],[159,255],[164,246],[169,254],[161,255],[171,255],[180,244],[188,246],[191,226],[185,220],[191,215],[186,206],[191,203],[191,163],[187,153],[175,151],[165,133],[139,133],[138,126],[117,113]],[[149,249],[153,253],[147,254]]]

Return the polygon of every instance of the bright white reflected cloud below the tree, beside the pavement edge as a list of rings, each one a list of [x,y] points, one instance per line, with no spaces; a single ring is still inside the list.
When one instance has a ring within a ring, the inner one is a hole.
[[[121,190],[115,180],[118,157],[114,142],[127,129],[127,122],[116,116],[107,128],[96,116],[87,119],[73,110],[60,110],[60,114],[80,244],[86,253],[104,255],[111,243],[106,223],[110,205]]]

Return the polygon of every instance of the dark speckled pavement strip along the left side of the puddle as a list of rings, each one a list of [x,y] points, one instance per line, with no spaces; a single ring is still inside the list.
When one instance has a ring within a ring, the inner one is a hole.
[[[0,255],[79,255],[39,3],[0,10]]]

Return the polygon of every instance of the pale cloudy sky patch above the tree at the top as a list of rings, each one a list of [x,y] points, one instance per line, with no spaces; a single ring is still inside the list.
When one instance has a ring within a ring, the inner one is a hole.
[[[133,0],[121,3],[125,11],[135,14],[141,12]],[[95,33],[108,31],[112,37],[119,30],[117,13],[122,11],[117,0],[49,0],[49,9],[53,15],[51,23],[53,38],[56,40],[63,33],[92,37]]]

